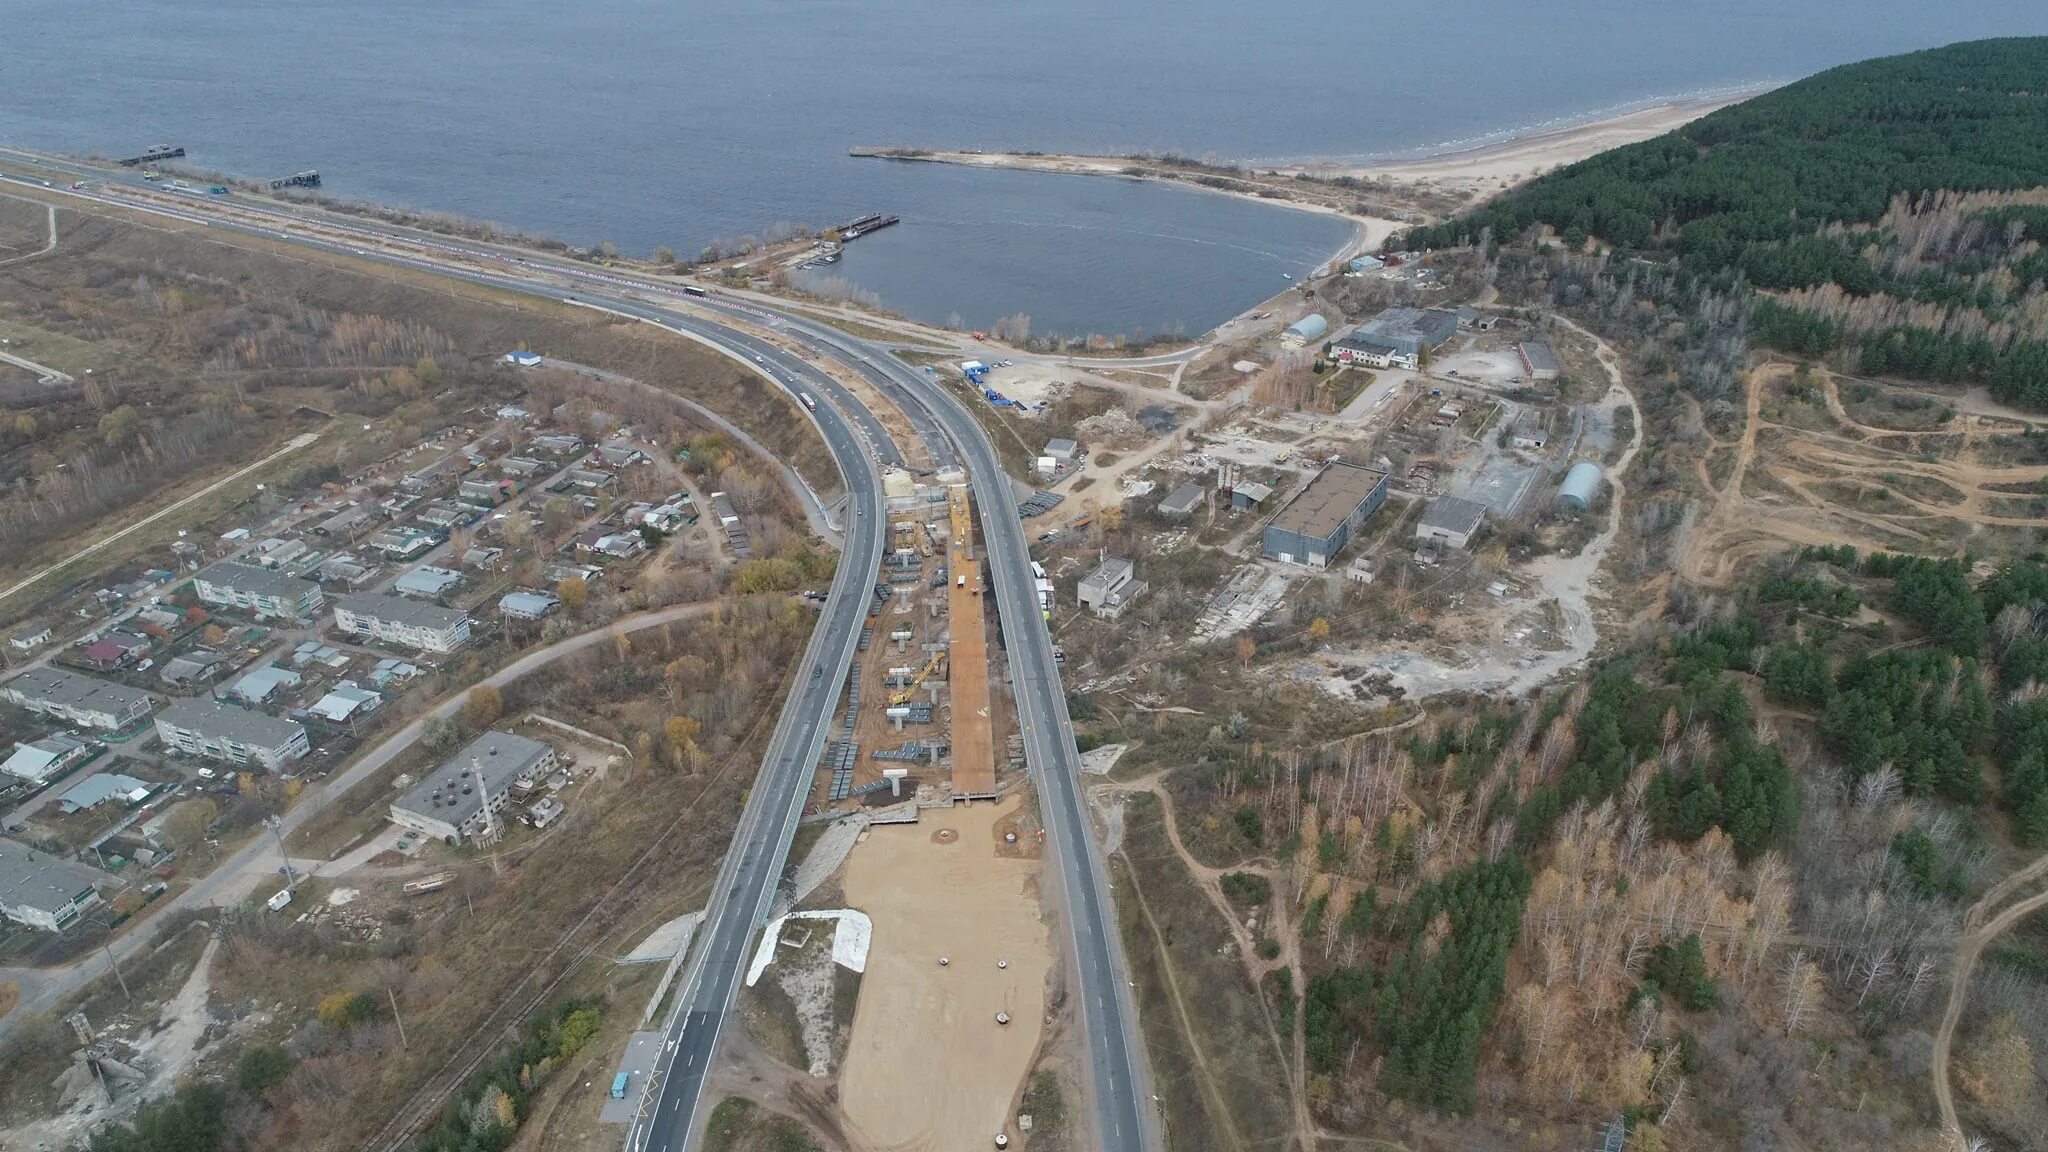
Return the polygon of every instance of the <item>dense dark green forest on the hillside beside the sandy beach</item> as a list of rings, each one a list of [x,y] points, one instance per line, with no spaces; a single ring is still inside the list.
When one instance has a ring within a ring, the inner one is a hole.
[[[1597,238],[1776,293],[1755,344],[2048,406],[2048,39],[1870,59],[1571,164],[1399,240]]]

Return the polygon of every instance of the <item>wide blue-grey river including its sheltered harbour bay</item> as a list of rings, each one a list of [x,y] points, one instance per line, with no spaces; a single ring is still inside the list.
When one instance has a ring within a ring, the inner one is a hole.
[[[1366,158],[1980,35],[2038,0],[0,0],[0,139],[182,143],[244,176],[575,244],[899,228],[842,273],[922,320],[1196,334],[1329,258],[1329,217],[858,143]]]

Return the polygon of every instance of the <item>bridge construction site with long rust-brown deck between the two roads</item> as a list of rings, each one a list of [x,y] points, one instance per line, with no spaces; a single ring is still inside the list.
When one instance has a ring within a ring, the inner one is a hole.
[[[995,799],[995,732],[1008,699],[989,685],[987,578],[965,484],[893,500],[891,551],[860,629],[840,726],[825,744],[813,812],[868,810],[870,822],[915,822],[922,808]]]

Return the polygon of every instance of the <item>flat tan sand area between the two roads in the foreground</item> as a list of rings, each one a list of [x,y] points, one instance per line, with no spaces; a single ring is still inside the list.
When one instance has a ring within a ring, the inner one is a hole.
[[[856,1148],[989,1148],[1008,1127],[1053,968],[1038,861],[997,855],[999,824],[1020,806],[1010,797],[872,828],[846,865],[846,902],[874,920],[840,1074]]]

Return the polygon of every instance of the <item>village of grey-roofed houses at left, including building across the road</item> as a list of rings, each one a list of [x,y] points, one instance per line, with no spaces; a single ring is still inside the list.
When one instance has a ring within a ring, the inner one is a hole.
[[[457,662],[502,664],[569,629],[565,613],[580,631],[641,605],[666,568],[750,556],[748,517],[705,490],[688,449],[582,404],[465,420],[342,482],[266,492],[219,531],[180,531],[131,578],[70,588],[12,631],[0,955],[117,929],[209,867],[209,845],[455,685]],[[379,845],[545,828],[578,763],[483,732],[401,789]],[[207,820],[180,820],[190,799]]]

